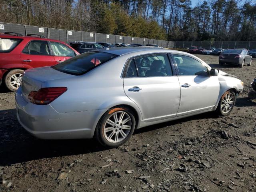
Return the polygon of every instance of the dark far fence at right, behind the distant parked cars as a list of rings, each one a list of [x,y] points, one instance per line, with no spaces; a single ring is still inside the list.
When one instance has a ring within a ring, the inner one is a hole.
[[[246,48],[248,50],[256,49],[256,41],[176,41],[175,49],[188,49],[192,46],[202,48]]]

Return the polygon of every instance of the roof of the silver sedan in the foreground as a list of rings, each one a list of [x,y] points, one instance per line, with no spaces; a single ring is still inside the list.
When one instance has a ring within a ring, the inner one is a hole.
[[[176,50],[168,50],[168,49],[162,49],[162,48],[156,48],[156,47],[144,47],[144,46],[138,46],[138,47],[113,47],[113,48],[106,48],[106,49],[98,49],[97,52],[106,52],[115,54],[118,56],[130,54],[136,52],[138,55],[141,53],[144,53],[147,51],[150,53],[156,53],[156,52],[174,52],[174,53],[184,53],[182,51],[176,51]]]

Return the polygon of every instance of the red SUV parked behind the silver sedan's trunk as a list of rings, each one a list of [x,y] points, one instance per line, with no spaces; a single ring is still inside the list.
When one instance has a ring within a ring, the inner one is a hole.
[[[58,40],[32,34],[0,34],[0,84],[16,91],[24,70],[52,66],[76,55],[76,50]]]

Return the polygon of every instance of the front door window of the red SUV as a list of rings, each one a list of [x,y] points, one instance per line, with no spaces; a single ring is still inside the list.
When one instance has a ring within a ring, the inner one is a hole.
[[[66,57],[74,57],[75,53],[68,46],[58,43],[51,42],[52,54],[54,56],[66,56]]]

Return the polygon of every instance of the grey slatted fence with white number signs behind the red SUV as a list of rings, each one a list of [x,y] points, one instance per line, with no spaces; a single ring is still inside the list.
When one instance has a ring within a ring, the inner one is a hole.
[[[157,44],[164,48],[173,48],[174,42],[147,39],[139,37],[120,36],[112,34],[100,34],[93,32],[74,31],[74,30],[62,30],[37,26],[27,26],[19,24],[10,24],[0,22],[0,33],[4,32],[16,32],[24,36],[27,34],[42,35],[46,38],[60,40],[67,44],[72,41],[84,41],[84,42],[104,42],[104,43],[127,43],[127,44]]]

